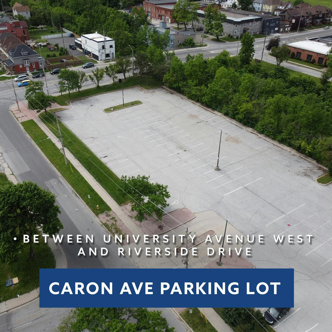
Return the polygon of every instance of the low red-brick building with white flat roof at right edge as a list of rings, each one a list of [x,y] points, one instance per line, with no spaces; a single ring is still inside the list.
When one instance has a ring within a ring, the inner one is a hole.
[[[324,42],[305,40],[295,41],[287,44],[290,48],[290,52],[294,52],[295,57],[306,61],[315,61],[316,63],[325,64],[326,56],[332,46],[327,45]]]

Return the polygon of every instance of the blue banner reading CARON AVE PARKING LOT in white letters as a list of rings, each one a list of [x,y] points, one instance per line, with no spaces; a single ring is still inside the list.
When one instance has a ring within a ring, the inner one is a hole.
[[[293,307],[293,269],[40,269],[40,307]]]

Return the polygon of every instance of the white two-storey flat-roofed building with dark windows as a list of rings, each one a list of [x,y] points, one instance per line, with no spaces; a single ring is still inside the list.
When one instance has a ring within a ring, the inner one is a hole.
[[[76,42],[79,39],[75,40]],[[104,38],[103,35],[88,34],[80,38],[82,51],[84,54],[91,55],[95,60],[106,60],[115,58],[115,41],[110,37]]]

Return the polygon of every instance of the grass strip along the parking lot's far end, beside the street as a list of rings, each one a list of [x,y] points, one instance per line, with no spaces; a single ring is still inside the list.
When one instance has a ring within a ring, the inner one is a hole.
[[[134,77],[128,77],[127,80],[123,80],[123,87],[124,88],[129,88],[135,85],[138,85],[144,89],[152,89],[152,88],[156,88],[158,86],[161,86],[162,83],[157,81],[154,78],[149,77],[148,78],[148,84],[146,84],[146,79],[141,79],[138,76],[134,76]],[[80,98],[85,98],[85,97],[90,97],[93,95],[97,95],[97,94],[101,94],[101,93],[105,93],[105,92],[112,92],[115,90],[120,90],[121,84],[120,83],[115,83],[115,84],[108,84],[108,85],[101,85],[100,88],[90,88],[90,89],[85,89],[85,90],[81,90],[80,92],[76,91],[76,92],[72,92],[70,94],[70,97],[68,94],[62,94],[62,96],[56,96],[56,102],[60,105],[60,106],[67,106],[67,101],[71,101],[71,100],[75,100],[75,99],[80,99]],[[126,98],[126,96],[124,95],[124,98]]]

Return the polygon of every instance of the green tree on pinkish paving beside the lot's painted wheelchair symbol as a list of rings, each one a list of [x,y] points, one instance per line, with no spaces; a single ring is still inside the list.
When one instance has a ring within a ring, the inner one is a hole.
[[[170,198],[167,186],[149,182],[145,175],[137,177],[121,177],[121,188],[129,196],[131,211],[137,212],[135,219],[143,221],[145,216],[153,216],[155,213],[158,220],[162,219],[164,208],[167,207],[166,199]]]

